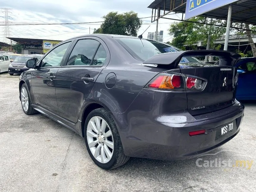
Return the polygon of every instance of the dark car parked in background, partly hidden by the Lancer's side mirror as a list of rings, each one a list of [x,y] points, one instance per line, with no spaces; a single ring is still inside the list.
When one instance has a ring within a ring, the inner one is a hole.
[[[15,57],[15,59],[9,64],[9,74],[21,74],[22,72],[27,71],[29,68],[26,67],[26,61],[29,59],[35,59],[38,61],[35,56],[20,55]]]

